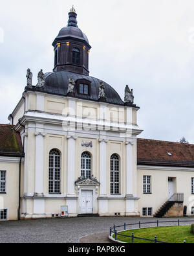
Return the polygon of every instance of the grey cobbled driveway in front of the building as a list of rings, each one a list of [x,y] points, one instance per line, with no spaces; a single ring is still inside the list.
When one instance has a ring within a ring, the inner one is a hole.
[[[80,217],[57,218],[43,220],[21,220],[18,222],[0,222],[0,242],[30,242],[30,243],[69,243],[80,242],[81,237],[94,233],[109,234],[109,227],[123,225],[124,222],[152,222],[156,218],[129,218],[129,217]],[[159,220],[177,220],[177,218],[160,218]],[[180,220],[193,220],[194,218],[180,218]],[[192,222],[191,222],[192,223]],[[189,223],[184,223],[188,225]],[[176,224],[169,223],[175,226]],[[146,226],[151,226],[147,224]],[[156,226],[156,225],[155,225]],[[133,228],[137,226],[132,226]],[[94,242],[88,237],[88,241]],[[107,242],[107,241],[105,241]]]

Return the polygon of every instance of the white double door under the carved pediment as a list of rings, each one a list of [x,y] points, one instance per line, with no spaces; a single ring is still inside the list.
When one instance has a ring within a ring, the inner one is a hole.
[[[81,191],[81,213],[93,213],[92,191]]]

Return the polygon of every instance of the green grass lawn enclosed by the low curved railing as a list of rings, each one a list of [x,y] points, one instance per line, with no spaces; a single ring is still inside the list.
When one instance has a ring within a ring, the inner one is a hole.
[[[177,226],[177,227],[151,227],[146,229],[135,229],[130,231],[120,232],[123,235],[131,235],[134,233],[135,237],[142,237],[144,239],[154,239],[171,243],[194,243],[194,235],[191,234],[191,226]],[[118,240],[131,243],[130,237],[117,236]],[[134,239],[135,243],[153,243],[146,240]]]

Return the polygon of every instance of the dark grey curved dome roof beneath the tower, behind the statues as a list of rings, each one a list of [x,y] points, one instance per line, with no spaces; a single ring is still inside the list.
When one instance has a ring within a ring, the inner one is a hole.
[[[86,79],[91,82],[91,95],[80,95],[76,91],[76,87],[75,87],[76,98],[98,101],[99,84],[102,80],[99,80],[98,78],[94,78],[92,76],[80,75],[80,74],[72,73],[69,71],[58,71],[58,72],[46,73],[45,87],[43,88],[43,91],[47,93],[56,94],[56,95],[67,96],[67,89],[68,89],[70,76],[73,77],[74,81],[78,79]],[[105,86],[106,102],[111,104],[124,105],[124,102],[122,101],[122,99],[120,99],[120,96],[113,89],[113,87],[109,86],[109,84],[105,82],[103,82],[103,84]],[[36,89],[38,90],[38,88]]]

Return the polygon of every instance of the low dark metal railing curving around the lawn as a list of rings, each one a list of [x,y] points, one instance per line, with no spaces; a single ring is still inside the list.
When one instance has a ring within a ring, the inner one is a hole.
[[[109,237],[112,237],[112,235],[114,234],[114,240],[116,242],[118,242],[118,237],[129,237],[129,239],[131,239],[131,243],[133,244],[134,243],[134,239],[139,239],[139,240],[146,240],[146,241],[149,241],[149,242],[153,242],[153,243],[160,243],[160,244],[170,244],[169,242],[164,242],[164,241],[160,241],[160,240],[157,240],[157,237],[155,236],[154,239],[144,239],[142,237],[135,237],[134,236],[134,233],[131,233],[131,235],[123,235],[121,234],[120,232],[121,231],[117,231],[118,228],[124,228],[124,231],[127,230],[126,227],[127,226],[137,226],[139,229],[142,228],[145,224],[156,224],[156,227],[159,227],[160,224],[167,224],[167,223],[175,223],[177,224],[176,226],[180,226],[180,223],[183,223],[183,222],[190,222],[190,223],[193,223],[194,220],[166,220],[166,221],[159,221],[159,220],[156,220],[156,222],[137,222],[137,223],[132,223],[132,224],[126,224],[124,223],[124,225],[120,225],[120,226],[113,226],[113,227],[110,227],[110,235]],[[152,226],[153,227],[153,226]],[[163,226],[164,227],[164,226]],[[149,227],[147,227],[149,228]],[[186,243],[186,240],[183,241],[184,244]]]

